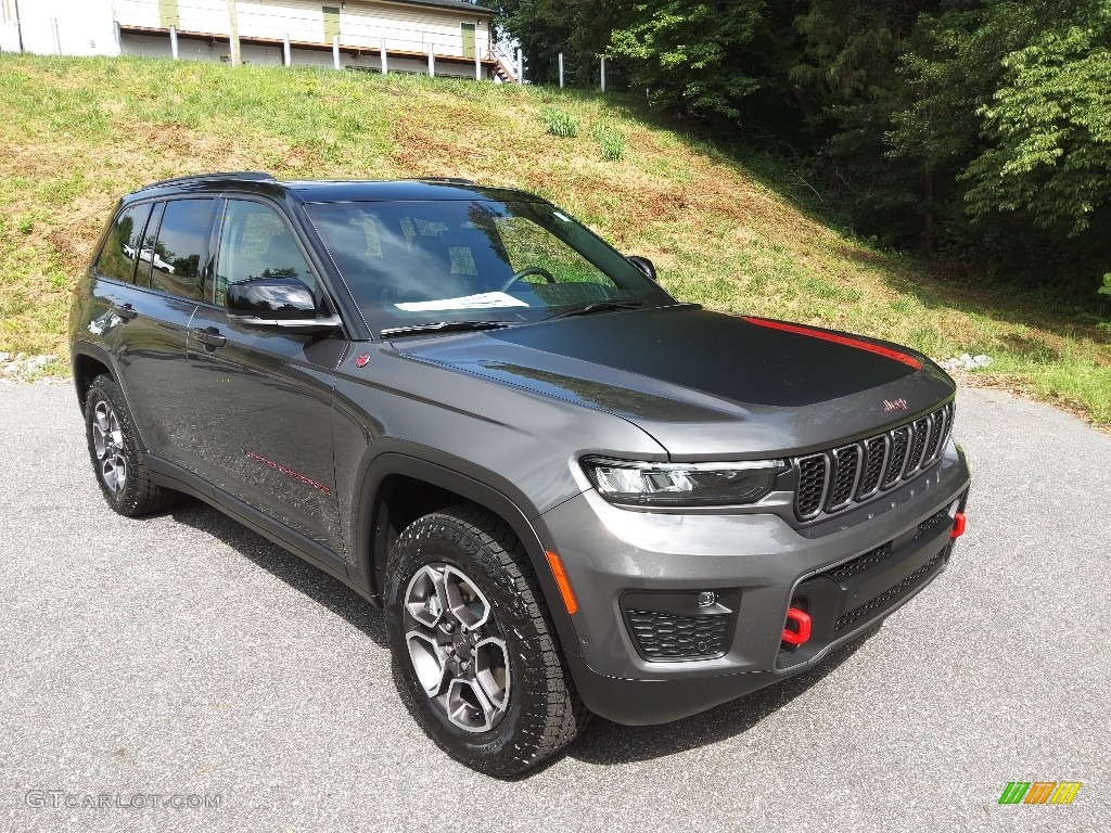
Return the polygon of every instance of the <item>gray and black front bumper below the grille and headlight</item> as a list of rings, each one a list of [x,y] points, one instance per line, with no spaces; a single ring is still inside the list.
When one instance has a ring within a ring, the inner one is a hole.
[[[662,723],[813,666],[944,570],[969,482],[951,444],[884,500],[804,529],[629,511],[593,491],[557,506],[542,520],[579,601],[578,645],[564,648],[583,702],[617,723]],[[715,600],[705,619],[701,593]],[[782,643],[792,604],[813,622],[798,648]]]

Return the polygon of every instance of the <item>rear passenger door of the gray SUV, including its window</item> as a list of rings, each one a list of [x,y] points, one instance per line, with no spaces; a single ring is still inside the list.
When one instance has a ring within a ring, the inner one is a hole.
[[[121,244],[122,260],[134,260],[136,271],[112,299],[122,321],[112,352],[143,445],[190,469],[198,460],[186,332],[201,297],[214,209],[213,198],[154,203],[138,243]]]

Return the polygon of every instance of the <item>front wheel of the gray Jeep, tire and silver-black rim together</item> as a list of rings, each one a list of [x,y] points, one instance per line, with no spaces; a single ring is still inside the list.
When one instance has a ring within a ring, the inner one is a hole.
[[[398,539],[387,572],[394,662],[446,752],[506,777],[574,740],[588,713],[504,522],[469,505],[426,515]]]

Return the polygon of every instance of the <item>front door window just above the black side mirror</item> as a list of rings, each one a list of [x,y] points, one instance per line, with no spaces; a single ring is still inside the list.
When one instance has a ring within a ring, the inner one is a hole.
[[[216,261],[216,302],[223,305],[229,285],[262,278],[297,278],[320,301],[317,280],[278,212],[261,202],[228,200]]]

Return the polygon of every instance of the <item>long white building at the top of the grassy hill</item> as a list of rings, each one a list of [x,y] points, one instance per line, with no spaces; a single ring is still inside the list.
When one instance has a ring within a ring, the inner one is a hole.
[[[229,0],[0,0],[0,50],[230,60]],[[236,0],[244,63],[509,80],[462,0]]]

